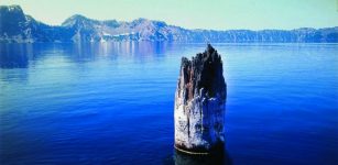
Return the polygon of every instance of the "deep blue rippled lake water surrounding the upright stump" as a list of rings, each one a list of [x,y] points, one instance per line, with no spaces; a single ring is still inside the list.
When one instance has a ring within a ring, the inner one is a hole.
[[[337,164],[338,44],[214,46],[228,84],[230,163]],[[182,163],[173,150],[181,57],[205,47],[1,44],[0,164]]]

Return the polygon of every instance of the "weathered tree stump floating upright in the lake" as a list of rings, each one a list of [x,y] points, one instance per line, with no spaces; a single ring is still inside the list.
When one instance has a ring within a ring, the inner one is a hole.
[[[209,152],[222,147],[227,86],[222,62],[208,44],[192,61],[182,58],[175,94],[175,147]]]

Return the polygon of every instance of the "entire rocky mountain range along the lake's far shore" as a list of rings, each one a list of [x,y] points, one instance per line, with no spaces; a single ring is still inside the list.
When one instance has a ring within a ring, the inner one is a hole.
[[[19,6],[0,6],[0,42],[268,42],[338,43],[338,26],[327,29],[284,30],[186,30],[162,21],[138,19],[132,22],[98,21],[73,15],[59,26],[51,26],[25,15]]]

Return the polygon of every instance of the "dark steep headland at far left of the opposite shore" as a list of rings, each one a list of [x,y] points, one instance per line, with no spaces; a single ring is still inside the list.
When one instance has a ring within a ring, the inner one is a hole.
[[[70,42],[70,36],[69,29],[39,22],[19,6],[0,6],[0,43]]]

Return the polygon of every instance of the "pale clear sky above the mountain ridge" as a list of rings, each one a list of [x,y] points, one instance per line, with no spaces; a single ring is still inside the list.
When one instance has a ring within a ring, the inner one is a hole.
[[[338,26],[338,0],[0,0],[59,25],[73,14],[96,20],[165,21],[186,29],[281,29]]]

